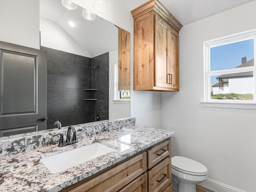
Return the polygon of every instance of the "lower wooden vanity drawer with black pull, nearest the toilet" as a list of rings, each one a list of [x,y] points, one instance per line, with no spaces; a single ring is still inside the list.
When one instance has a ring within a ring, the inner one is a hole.
[[[171,168],[168,157],[148,171],[148,192],[162,192],[171,184]]]

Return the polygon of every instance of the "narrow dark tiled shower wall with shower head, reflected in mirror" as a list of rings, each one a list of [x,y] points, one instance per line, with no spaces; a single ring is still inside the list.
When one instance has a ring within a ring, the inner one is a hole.
[[[97,67],[96,70],[94,67]],[[97,91],[92,91],[92,121],[96,121],[96,116],[100,115],[100,120],[108,118],[109,106],[109,53],[105,53],[92,58],[92,88],[97,88]]]

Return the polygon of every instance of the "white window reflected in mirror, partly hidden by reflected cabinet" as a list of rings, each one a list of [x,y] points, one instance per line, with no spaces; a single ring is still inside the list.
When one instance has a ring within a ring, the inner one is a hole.
[[[130,101],[130,91],[118,91],[118,64],[115,64],[114,66],[114,100],[120,100],[120,101]]]

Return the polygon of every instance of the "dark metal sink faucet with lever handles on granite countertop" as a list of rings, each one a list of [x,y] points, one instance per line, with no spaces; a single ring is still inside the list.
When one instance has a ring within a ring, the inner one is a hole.
[[[72,139],[71,139],[71,131],[73,132],[73,138]],[[78,142],[77,137],[76,137],[76,131],[77,130],[73,125],[70,125],[68,127],[66,142],[64,142],[63,134],[61,134],[61,133],[52,134],[52,136],[54,137],[54,136],[60,135],[60,142],[59,142],[58,146],[63,147],[63,146],[70,145],[70,144]]]

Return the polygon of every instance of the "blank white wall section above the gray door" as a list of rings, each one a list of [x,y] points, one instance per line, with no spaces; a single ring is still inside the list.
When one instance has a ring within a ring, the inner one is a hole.
[[[40,48],[39,0],[0,0],[0,41]]]

